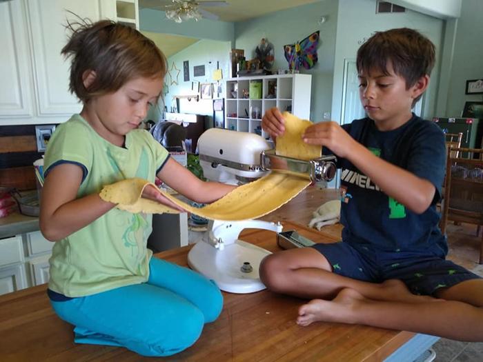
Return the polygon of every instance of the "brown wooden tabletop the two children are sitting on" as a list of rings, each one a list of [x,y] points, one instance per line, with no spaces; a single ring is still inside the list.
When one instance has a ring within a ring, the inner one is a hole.
[[[313,241],[336,241],[330,234],[284,222],[284,230],[290,229],[297,229]],[[279,250],[275,233],[267,230],[245,230],[240,239],[273,252]],[[189,250],[190,246],[187,246],[156,256],[186,265]],[[300,327],[295,319],[297,309],[305,301],[267,290],[253,294],[224,293],[224,297],[224,309],[219,319],[205,326],[195,345],[163,360],[382,361],[414,335],[339,323],[313,323]],[[144,360],[125,348],[76,345],[72,326],[61,321],[50,308],[46,285],[0,296],[1,361],[90,359]]]

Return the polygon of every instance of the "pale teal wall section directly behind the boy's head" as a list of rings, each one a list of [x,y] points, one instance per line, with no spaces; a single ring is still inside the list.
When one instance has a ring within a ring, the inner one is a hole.
[[[375,14],[374,0],[339,0],[337,19],[337,43],[332,97],[332,119],[339,121],[342,107],[342,83],[344,59],[355,60],[357,49],[375,31],[391,28],[414,28],[426,35],[437,48],[436,66],[431,83],[426,91],[424,117],[433,117],[440,74],[440,51],[444,21],[419,12],[406,10],[404,13]],[[355,25],[357,24],[357,25]]]

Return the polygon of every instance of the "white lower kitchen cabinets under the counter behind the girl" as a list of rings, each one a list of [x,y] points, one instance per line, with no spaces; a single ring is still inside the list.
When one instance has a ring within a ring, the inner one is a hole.
[[[39,231],[0,239],[0,294],[47,283],[53,246]]]

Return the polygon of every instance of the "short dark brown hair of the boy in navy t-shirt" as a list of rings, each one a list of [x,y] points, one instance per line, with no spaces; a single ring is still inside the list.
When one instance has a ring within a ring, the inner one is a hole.
[[[399,28],[376,32],[357,50],[359,73],[370,74],[372,70],[380,70],[388,74],[388,62],[391,62],[395,74],[406,80],[406,89],[411,88],[418,79],[431,74],[435,46],[420,32]]]

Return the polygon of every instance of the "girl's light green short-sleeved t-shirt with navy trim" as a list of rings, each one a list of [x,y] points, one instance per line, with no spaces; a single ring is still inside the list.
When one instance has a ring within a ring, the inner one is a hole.
[[[48,143],[44,170],[60,163],[83,169],[77,197],[99,193],[103,185],[132,177],[155,181],[169,154],[146,130],[126,134],[124,147],[103,139],[79,115],[57,127]],[[42,202],[48,202],[43,200]],[[57,241],[50,257],[48,288],[66,296],[86,296],[148,280],[152,252],[146,247],[152,215],[112,208],[81,230]]]

